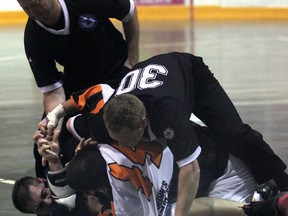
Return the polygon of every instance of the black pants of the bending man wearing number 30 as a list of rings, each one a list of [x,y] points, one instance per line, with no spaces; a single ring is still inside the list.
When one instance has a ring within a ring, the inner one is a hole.
[[[212,130],[217,143],[245,161],[258,184],[283,173],[286,165],[274,154],[259,132],[242,122],[228,95],[208,67],[198,62],[196,71],[190,86],[191,112]]]

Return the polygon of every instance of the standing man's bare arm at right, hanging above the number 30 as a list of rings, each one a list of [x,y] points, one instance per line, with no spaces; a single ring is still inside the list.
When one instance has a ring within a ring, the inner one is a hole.
[[[125,66],[132,68],[139,61],[139,21],[137,8],[128,22],[122,22],[128,47],[128,58]]]

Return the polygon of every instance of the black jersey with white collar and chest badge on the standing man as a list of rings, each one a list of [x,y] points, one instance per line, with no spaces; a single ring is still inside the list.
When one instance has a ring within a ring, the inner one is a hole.
[[[60,30],[31,18],[26,24],[25,51],[38,87],[45,92],[63,82],[66,94],[70,95],[97,83],[121,79],[127,45],[109,18],[129,19],[134,12],[133,1],[59,2],[63,11]],[[64,67],[64,76],[55,62]]]

